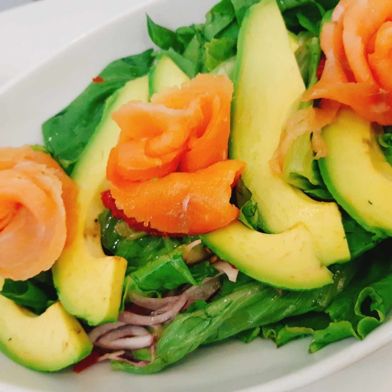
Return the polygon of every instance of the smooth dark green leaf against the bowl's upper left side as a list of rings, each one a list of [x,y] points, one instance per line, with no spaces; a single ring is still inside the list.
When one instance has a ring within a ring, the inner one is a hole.
[[[45,146],[68,174],[101,121],[107,98],[125,83],[147,74],[152,60],[149,49],[113,61],[100,73],[103,83],[91,83],[65,109],[44,122]]]

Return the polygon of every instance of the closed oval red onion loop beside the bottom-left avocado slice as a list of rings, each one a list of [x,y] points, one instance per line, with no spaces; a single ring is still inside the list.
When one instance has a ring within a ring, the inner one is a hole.
[[[143,327],[124,325],[111,330],[94,342],[94,345],[110,350],[136,350],[152,345],[154,337]]]

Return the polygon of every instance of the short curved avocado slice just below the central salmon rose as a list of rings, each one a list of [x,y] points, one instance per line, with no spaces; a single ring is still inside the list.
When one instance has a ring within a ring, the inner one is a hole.
[[[332,283],[332,273],[320,264],[302,223],[280,234],[264,234],[234,221],[200,238],[222,260],[268,285],[309,290]]]

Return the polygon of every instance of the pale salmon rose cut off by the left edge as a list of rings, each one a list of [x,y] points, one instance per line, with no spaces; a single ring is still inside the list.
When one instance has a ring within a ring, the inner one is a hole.
[[[44,152],[0,148],[0,276],[25,280],[53,265],[74,234],[77,192]]]

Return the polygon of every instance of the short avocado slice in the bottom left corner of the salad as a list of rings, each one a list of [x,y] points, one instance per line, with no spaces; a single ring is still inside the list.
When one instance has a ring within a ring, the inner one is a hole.
[[[0,290],[4,279],[0,278]],[[0,294],[0,350],[33,370],[54,372],[79,362],[93,345],[82,326],[56,302],[37,316]]]

